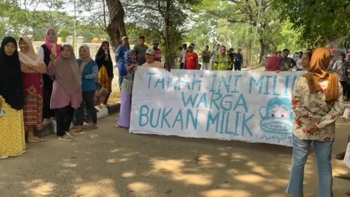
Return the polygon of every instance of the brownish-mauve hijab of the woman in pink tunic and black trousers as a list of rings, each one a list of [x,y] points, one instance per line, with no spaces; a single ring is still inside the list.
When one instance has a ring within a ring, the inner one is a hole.
[[[61,55],[55,60],[56,80],[63,89],[71,96],[82,86],[82,74],[80,73],[73,47],[65,45],[70,50],[69,58]]]

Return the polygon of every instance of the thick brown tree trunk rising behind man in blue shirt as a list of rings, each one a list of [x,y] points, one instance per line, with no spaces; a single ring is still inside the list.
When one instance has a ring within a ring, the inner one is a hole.
[[[117,48],[121,45],[121,37],[126,36],[124,23],[124,8],[120,0],[106,0],[109,12],[109,24],[106,27],[106,33],[110,36],[112,47]]]

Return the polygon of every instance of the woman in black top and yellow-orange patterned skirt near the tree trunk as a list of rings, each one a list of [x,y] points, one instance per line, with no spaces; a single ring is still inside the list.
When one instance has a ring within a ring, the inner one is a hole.
[[[95,56],[95,61],[99,70],[98,80],[102,86],[108,90],[108,96],[103,104],[107,104],[109,96],[112,92],[112,80],[114,77],[113,63],[109,47],[109,42],[103,41]]]

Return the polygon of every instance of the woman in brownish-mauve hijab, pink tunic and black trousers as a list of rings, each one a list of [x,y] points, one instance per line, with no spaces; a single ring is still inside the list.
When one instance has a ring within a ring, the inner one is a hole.
[[[51,54],[51,62],[47,74],[54,79],[51,109],[55,109],[58,140],[73,140],[68,134],[70,124],[82,102],[82,74],[79,71],[73,47],[64,45],[61,55],[55,59]]]

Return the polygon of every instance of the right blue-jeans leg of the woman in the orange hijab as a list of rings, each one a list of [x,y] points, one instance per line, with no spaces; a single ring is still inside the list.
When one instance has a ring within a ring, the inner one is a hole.
[[[333,142],[314,141],[318,171],[318,197],[332,197],[332,165],[330,163]]]

